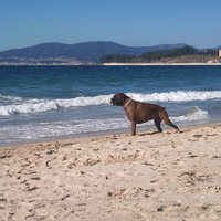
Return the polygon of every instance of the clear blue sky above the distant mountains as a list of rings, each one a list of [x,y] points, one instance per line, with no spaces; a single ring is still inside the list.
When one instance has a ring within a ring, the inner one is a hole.
[[[221,0],[0,0],[0,51],[44,42],[221,45]]]

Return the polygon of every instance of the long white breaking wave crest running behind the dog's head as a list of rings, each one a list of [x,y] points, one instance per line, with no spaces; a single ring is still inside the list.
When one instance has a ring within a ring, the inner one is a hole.
[[[168,93],[127,93],[129,97],[140,102],[191,102],[191,101],[207,101],[221,99],[221,91],[213,92],[191,92],[178,91]],[[94,97],[75,97],[66,99],[22,99],[21,97],[3,97],[1,99],[10,101],[8,104],[1,102],[0,116],[25,113],[41,113],[59,108],[81,107],[92,105],[109,104],[110,95],[99,95]],[[13,104],[11,104],[13,103]]]

